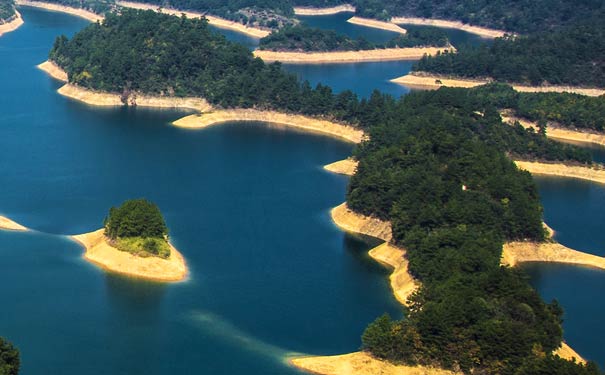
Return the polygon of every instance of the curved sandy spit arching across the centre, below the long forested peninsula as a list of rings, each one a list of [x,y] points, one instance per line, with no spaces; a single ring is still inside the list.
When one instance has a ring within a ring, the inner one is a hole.
[[[349,125],[342,125],[302,115],[286,114],[275,111],[259,111],[255,109],[216,110],[213,112],[194,114],[173,122],[173,125],[189,129],[203,129],[226,122],[239,121],[259,121],[291,126],[305,131],[330,135],[352,143],[359,143],[364,138],[363,131]]]

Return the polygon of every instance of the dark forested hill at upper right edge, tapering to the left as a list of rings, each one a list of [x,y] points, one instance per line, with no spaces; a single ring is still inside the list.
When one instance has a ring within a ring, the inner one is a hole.
[[[599,19],[528,36],[496,38],[491,45],[424,57],[413,69],[532,85],[605,87],[605,23]]]

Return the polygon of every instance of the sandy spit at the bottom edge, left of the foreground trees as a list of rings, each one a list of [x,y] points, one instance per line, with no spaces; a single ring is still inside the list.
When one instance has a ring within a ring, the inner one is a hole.
[[[365,352],[323,356],[299,357],[289,361],[293,366],[313,374],[323,375],[456,375],[438,368],[393,365]]]

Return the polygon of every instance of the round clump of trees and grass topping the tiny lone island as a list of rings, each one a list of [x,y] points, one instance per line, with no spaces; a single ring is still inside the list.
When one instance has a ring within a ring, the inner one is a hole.
[[[109,243],[137,256],[168,258],[168,228],[158,206],[145,199],[128,200],[112,207],[104,222]]]

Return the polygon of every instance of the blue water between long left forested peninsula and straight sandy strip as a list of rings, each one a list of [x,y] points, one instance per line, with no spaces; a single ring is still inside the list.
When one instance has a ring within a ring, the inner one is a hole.
[[[312,86],[321,83],[332,87],[335,92],[352,90],[360,98],[367,98],[372,91],[400,97],[411,90],[405,86],[390,82],[391,79],[410,72],[412,61],[366,62],[355,64],[284,64],[284,68],[308,80]]]

